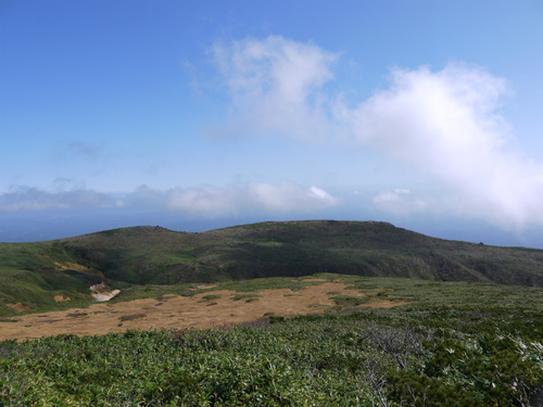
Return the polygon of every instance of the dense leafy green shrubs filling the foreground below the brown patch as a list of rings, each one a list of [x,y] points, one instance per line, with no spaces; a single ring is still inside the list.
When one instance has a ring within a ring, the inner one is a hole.
[[[0,404],[529,405],[543,384],[538,321],[512,325],[489,314],[470,322],[470,314],[406,307],[211,330],[5,341]]]

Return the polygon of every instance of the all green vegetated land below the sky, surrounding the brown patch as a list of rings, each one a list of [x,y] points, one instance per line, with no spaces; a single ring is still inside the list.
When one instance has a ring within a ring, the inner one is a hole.
[[[323,281],[349,290],[331,284],[320,314],[5,340],[0,406],[542,405],[541,250],[328,220],[0,243],[2,323],[89,306],[97,283],[121,290],[111,306],[198,295],[212,309]]]

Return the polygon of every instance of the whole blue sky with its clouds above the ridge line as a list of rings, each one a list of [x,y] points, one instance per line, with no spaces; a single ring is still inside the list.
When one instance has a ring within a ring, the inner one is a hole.
[[[0,241],[382,220],[543,249],[539,0],[0,0]]]

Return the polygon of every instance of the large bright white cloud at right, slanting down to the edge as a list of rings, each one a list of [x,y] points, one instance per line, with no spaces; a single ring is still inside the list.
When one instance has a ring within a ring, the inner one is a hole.
[[[351,111],[358,145],[377,147],[440,179],[456,211],[504,225],[543,222],[543,166],[515,151],[497,115],[505,81],[451,64],[394,69],[389,90]]]

